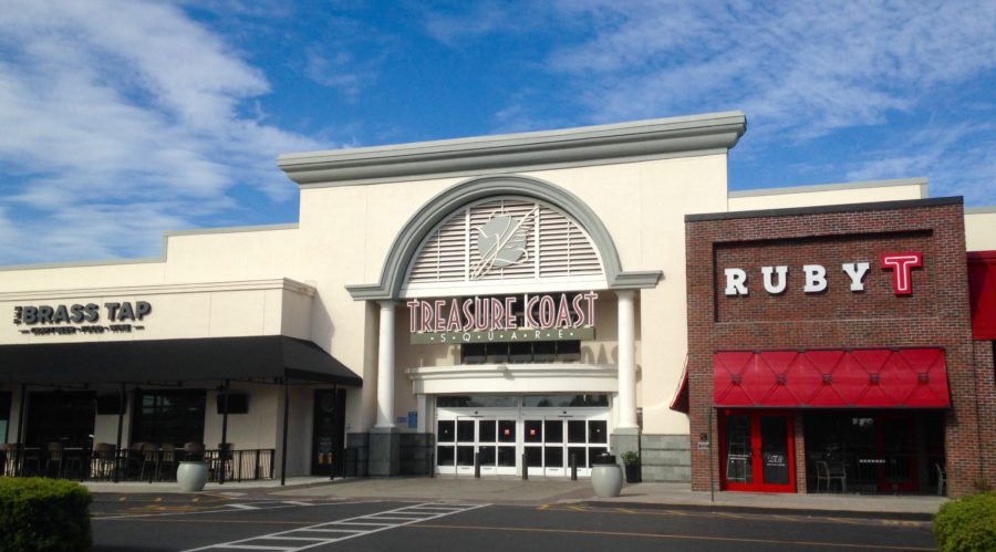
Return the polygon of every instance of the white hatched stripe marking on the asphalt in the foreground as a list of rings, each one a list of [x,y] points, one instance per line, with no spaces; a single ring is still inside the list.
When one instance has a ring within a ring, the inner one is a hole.
[[[484,508],[486,506],[489,504],[449,504],[427,502],[416,506],[396,508],[394,510],[387,510],[384,512],[367,513],[364,515],[357,515],[355,518],[347,518],[344,520],[330,521],[328,523],[319,523],[317,525],[300,529],[291,529],[289,531],[281,531],[279,533],[270,533],[238,541],[210,544],[198,549],[190,549],[187,552],[194,552],[198,550],[225,549],[282,550],[286,552],[294,552],[298,550],[305,550],[314,546],[321,546],[323,544],[331,544],[333,542],[340,542],[349,539],[355,539],[357,537],[378,533],[381,531],[387,531],[388,529],[411,525],[413,523],[437,520],[446,515],[453,515],[455,513],[466,512],[475,510],[477,508]],[[424,510],[436,511],[424,512]],[[419,513],[419,511],[423,512]],[[394,521],[392,522],[387,520]],[[355,529],[356,527],[369,527],[370,529]],[[334,531],[334,533],[321,538],[305,537],[308,533],[314,534],[315,532],[330,531]],[[302,544],[302,542],[304,541],[309,542],[309,544]],[[283,545],[274,546],[274,543],[281,543]]]

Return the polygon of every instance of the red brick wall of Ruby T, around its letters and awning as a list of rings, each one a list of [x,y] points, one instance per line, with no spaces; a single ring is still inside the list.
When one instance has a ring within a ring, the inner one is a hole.
[[[952,408],[945,421],[948,494],[996,486],[992,342],[973,342],[961,198],[686,217],[688,390],[693,440],[708,435],[713,355],[719,351],[942,347]],[[913,292],[893,292],[880,256],[916,251]],[[869,261],[864,291],[842,263]],[[826,267],[828,288],[803,292],[803,264]],[[788,265],[787,288],[765,290],[761,267]],[[724,269],[747,272],[747,295],[727,295]],[[806,491],[803,410],[793,415],[796,481]],[[717,412],[712,435],[718,440]],[[692,487],[708,490],[719,447],[692,448]],[[718,479],[716,479],[718,481]],[[718,488],[718,483],[716,483]]]

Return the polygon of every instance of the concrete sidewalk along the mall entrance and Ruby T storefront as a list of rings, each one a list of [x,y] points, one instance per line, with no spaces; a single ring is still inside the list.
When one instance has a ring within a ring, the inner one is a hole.
[[[84,483],[93,492],[170,493],[176,483]],[[615,508],[695,507],[719,509],[759,509],[800,512],[853,512],[885,515],[913,515],[927,519],[947,499],[933,496],[864,494],[774,494],[754,492],[692,491],[687,483],[636,483],[623,488],[616,498],[594,496],[589,480],[554,478],[454,478],[397,477],[369,479],[292,478],[280,481],[208,483],[204,492],[246,497],[247,499],[374,499],[374,500],[459,500],[497,504],[585,503]]]

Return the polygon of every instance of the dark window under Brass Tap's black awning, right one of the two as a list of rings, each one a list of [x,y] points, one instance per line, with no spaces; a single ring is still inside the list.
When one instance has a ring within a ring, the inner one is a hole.
[[[205,392],[144,390],[135,402],[132,442],[204,442]]]

